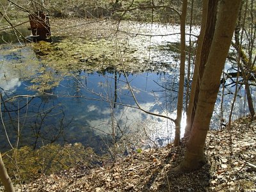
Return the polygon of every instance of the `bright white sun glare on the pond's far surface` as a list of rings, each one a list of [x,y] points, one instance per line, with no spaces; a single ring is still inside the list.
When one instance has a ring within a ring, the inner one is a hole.
[[[148,24],[140,22],[123,22],[119,26],[120,31],[128,33],[127,46],[135,49],[132,53],[134,60],[147,62],[148,68],[157,70],[164,68],[166,72],[170,72],[170,67],[179,65],[179,54],[171,52],[168,47],[180,40],[179,26],[168,24]],[[129,28],[127,28],[129,26]],[[199,28],[192,28],[191,40],[196,40],[196,35],[199,34]],[[189,32],[189,27],[186,27],[186,33]],[[122,33],[123,34],[123,33]],[[186,43],[189,44],[189,36],[186,36]],[[138,48],[139,47],[139,48]],[[154,65],[152,65],[154,64]]]

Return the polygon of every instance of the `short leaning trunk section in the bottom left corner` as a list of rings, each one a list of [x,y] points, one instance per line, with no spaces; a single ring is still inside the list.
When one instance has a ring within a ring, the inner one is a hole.
[[[0,179],[3,183],[4,189],[7,192],[14,192],[12,180],[10,179],[8,173],[6,172],[6,168],[4,166],[1,152],[0,152]]]

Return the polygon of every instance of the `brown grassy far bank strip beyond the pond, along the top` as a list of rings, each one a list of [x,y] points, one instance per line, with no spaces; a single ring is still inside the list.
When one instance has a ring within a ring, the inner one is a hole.
[[[8,9],[10,19],[18,19],[24,16],[24,12],[33,12],[40,7],[36,1],[22,0],[1,0],[2,8]],[[162,1],[162,0],[48,0],[44,1],[44,10],[52,17],[82,17],[90,19],[109,18],[120,20],[137,20],[143,22],[163,22],[179,23],[179,11],[182,7],[182,1]],[[17,4],[18,6],[15,6]],[[193,4],[193,22],[199,24],[202,13],[202,1],[195,0]],[[2,9],[0,8],[0,9]],[[4,11],[2,11],[4,12]],[[11,14],[12,13],[12,14]],[[25,14],[26,15],[26,14]],[[191,12],[188,12],[187,22]]]

